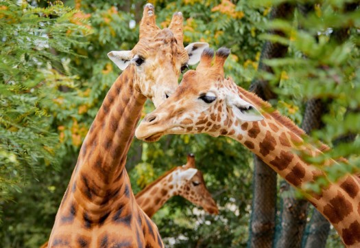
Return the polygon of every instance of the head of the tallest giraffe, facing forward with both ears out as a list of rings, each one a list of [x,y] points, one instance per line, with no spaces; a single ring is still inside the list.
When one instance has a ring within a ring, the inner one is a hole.
[[[124,70],[134,66],[134,87],[158,106],[178,87],[180,73],[200,60],[208,43],[191,43],[184,47],[182,14],[176,12],[169,28],[160,30],[155,23],[154,6],[144,6],[139,42],[130,51],[112,51],[108,57]]]

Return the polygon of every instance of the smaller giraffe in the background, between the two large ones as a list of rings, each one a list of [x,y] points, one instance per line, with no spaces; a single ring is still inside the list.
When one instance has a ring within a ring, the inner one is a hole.
[[[152,218],[169,198],[176,195],[204,207],[209,214],[219,214],[217,205],[206,188],[202,172],[195,168],[193,154],[187,155],[187,164],[169,170],[136,194],[135,198],[145,214]]]

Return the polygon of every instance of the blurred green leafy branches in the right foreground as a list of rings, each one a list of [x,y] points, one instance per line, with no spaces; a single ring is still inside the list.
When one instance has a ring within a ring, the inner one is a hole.
[[[314,3],[314,10],[306,17],[296,12],[295,21],[274,20],[264,25],[266,29],[283,32],[285,37],[273,33],[263,38],[289,45],[286,58],[266,61],[275,71],[273,82],[280,78],[280,84],[274,88],[280,98],[288,104],[291,101],[301,104],[311,98],[328,102],[328,113],[322,118],[324,128],[314,131],[308,139],[313,144],[320,139],[331,145],[339,137],[360,131],[357,66],[360,50],[358,31],[353,28],[360,20],[360,12],[355,8],[348,11],[350,4],[347,1]],[[346,172],[359,171],[359,155],[356,140],[333,148],[311,163],[322,166],[326,159],[349,157],[349,165],[326,168],[331,180],[336,181]]]

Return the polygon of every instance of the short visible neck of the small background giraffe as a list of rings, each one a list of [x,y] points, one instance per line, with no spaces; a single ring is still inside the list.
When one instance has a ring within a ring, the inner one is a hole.
[[[170,170],[136,194],[136,202],[150,218],[163,207],[169,198],[178,194],[179,185],[173,177],[176,169]]]

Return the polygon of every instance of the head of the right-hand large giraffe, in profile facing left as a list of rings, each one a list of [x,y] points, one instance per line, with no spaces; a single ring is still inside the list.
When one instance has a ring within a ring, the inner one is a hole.
[[[165,134],[208,133],[231,136],[241,124],[258,122],[263,115],[239,92],[231,78],[224,78],[230,50],[205,49],[196,71],[187,71],[178,89],[155,111],[146,115],[136,137],[154,142]]]

